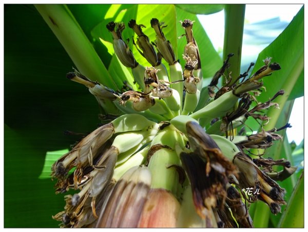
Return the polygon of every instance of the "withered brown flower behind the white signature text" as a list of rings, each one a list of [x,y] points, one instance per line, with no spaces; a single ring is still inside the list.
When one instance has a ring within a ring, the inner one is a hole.
[[[246,197],[249,197],[250,201],[262,200],[268,204],[273,214],[279,213],[281,210],[280,205],[285,204],[283,200],[285,190],[261,171],[246,154],[237,154],[233,162],[240,170],[239,182],[241,189],[252,188],[252,192],[259,191],[257,195]]]

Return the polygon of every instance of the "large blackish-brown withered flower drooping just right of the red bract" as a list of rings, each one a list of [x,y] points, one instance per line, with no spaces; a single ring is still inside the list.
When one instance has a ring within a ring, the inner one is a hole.
[[[237,175],[236,167],[197,122],[188,121],[186,131],[194,152],[182,152],[180,158],[191,184],[195,208],[206,227],[218,227],[216,208],[224,204],[228,176]]]

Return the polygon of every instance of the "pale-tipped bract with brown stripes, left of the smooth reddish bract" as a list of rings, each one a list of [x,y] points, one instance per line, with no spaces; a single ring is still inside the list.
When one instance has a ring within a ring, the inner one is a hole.
[[[150,184],[151,174],[147,167],[130,168],[104,202],[96,227],[137,227]]]

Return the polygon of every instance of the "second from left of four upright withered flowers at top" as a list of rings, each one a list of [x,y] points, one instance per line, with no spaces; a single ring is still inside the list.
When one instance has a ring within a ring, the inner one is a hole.
[[[149,37],[146,36],[142,32],[142,27],[145,27],[144,25],[138,25],[136,23],[136,20],[131,19],[128,23],[128,27],[130,27],[136,34],[137,34],[137,50],[140,52],[144,58],[151,64],[151,66],[158,66],[161,63],[161,59],[158,58],[156,51],[153,47],[153,45],[150,43]],[[133,41],[134,43],[134,41]],[[136,44],[134,44],[136,45]]]

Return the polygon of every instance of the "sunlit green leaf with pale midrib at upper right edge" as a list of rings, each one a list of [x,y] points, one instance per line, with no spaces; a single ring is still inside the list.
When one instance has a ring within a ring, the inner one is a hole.
[[[266,90],[257,97],[258,101],[265,102],[272,98],[275,93],[283,89],[285,94],[277,97],[274,101],[279,104],[280,109],[271,108],[266,112],[271,121],[264,127],[270,130],[277,125],[287,121],[279,121],[278,117],[288,99],[303,95],[303,86],[300,86],[303,78],[303,8],[293,18],[290,25],[276,38],[272,44],[266,47],[258,56],[256,65],[252,73],[263,66],[263,59],[273,57],[273,62],[278,62],[281,70],[275,71],[271,76],[263,78]],[[294,90],[296,87],[296,90]],[[296,91],[296,92],[295,92]],[[253,130],[259,130],[260,126],[254,120],[247,121]]]

